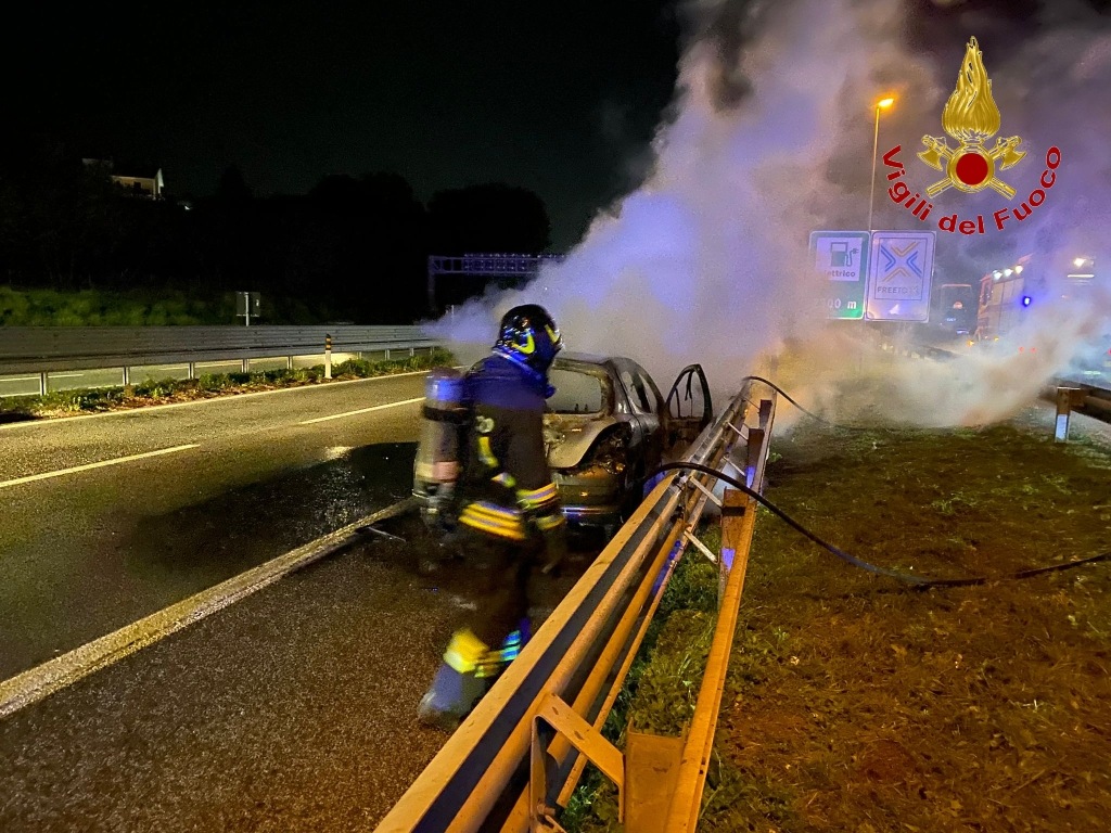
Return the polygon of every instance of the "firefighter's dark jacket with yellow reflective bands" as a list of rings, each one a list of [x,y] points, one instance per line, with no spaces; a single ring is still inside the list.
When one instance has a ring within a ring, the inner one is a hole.
[[[547,382],[494,354],[467,373],[471,426],[459,521],[496,539],[561,539],[564,519],[544,450]]]

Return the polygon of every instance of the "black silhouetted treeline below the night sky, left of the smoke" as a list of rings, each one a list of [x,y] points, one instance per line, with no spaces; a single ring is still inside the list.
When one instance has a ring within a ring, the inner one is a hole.
[[[229,168],[200,198],[176,194],[167,177],[163,199],[151,200],[58,143],[7,153],[0,281],[213,299],[256,291],[263,323],[268,301],[287,321],[407,323],[429,311],[429,254],[540,253],[550,242],[543,201],[502,183],[441,191],[426,205],[397,173],[326,175],[307,194],[258,197]]]

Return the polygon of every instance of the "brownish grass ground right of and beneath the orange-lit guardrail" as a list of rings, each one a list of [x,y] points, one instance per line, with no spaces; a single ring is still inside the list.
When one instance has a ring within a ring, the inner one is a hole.
[[[1084,441],[808,423],[773,445],[768,498],[887,568],[1002,576],[1111,549],[1111,453]],[[685,601],[638,660],[622,726],[689,720],[717,593],[699,560],[668,589]],[[1105,829],[1109,670],[1107,563],[911,590],[761,511],[699,830]],[[568,829],[620,830],[614,797],[589,779]]]

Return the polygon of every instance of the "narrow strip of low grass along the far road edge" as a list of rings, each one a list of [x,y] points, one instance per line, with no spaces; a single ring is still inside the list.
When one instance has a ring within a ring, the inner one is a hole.
[[[237,393],[326,384],[329,381],[430,370],[456,363],[454,357],[439,348],[428,353],[390,361],[351,359],[332,365],[332,379],[324,379],[324,365],[296,370],[264,370],[250,373],[212,373],[198,379],[148,379],[120,388],[83,388],[56,391],[44,397],[0,399],[0,422],[54,419],[81,413],[120,411],[170,402],[190,402]]]

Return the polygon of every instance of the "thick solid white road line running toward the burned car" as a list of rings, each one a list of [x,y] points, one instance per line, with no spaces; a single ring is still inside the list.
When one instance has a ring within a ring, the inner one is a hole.
[[[416,511],[416,508],[414,499],[406,498],[246,573],[234,575],[216,586],[151,613],[138,622],[124,625],[61,656],[47,660],[41,665],[36,665],[10,680],[0,681],[0,719],[223,610],[233,602],[273,584],[294,570],[342,550],[357,542],[360,526]]]

